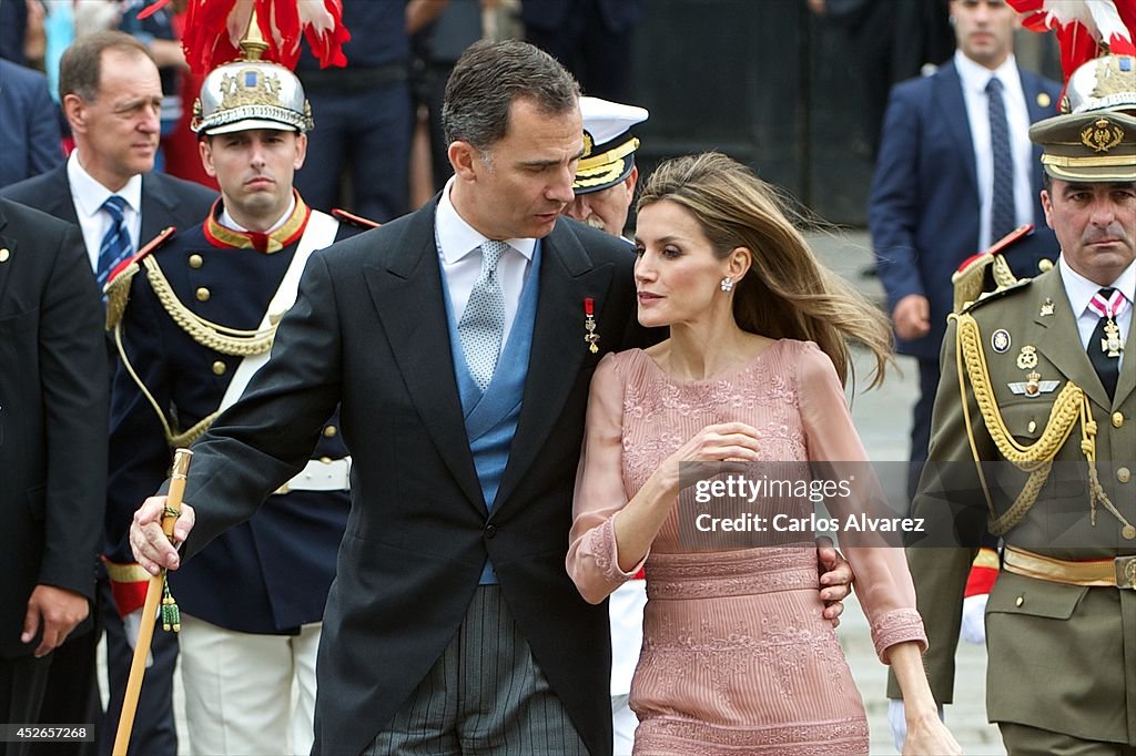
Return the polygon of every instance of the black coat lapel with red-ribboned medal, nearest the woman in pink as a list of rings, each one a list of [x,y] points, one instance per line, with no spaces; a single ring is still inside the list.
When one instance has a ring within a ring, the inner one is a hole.
[[[557,224],[543,242],[541,291],[525,398],[494,514],[508,504],[517,484],[556,430],[556,422],[588,354],[584,342],[584,300],[594,299],[596,314],[602,316],[602,303],[610,296],[613,271],[611,264],[594,267],[591,255],[563,222]]]

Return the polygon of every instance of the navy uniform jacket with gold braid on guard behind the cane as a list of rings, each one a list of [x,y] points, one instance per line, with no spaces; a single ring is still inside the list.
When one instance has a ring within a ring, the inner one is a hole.
[[[144,596],[125,538],[131,513],[166,479],[172,448],[187,446],[217,417],[242,360],[270,348],[275,324],[262,329],[261,321],[314,213],[299,193],[294,205],[277,229],[260,234],[218,222],[218,201],[201,226],[164,235],[109,287],[123,354],[108,501],[120,546],[109,558],[116,596],[130,606]],[[334,238],[364,226],[339,222]],[[350,457],[337,426],[328,419],[304,471],[251,520],[169,576],[183,614],[257,635],[299,636],[320,621],[350,509]]]

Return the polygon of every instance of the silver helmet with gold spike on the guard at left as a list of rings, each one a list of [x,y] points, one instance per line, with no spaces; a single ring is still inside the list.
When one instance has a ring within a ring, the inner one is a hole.
[[[241,58],[211,70],[201,85],[190,121],[194,134],[228,134],[250,128],[302,134],[316,125],[296,75],[284,66],[260,60],[267,47],[253,16],[241,41]]]

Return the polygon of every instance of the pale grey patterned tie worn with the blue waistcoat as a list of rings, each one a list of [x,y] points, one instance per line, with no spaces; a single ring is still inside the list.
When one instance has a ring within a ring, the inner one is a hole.
[[[482,244],[482,274],[469,292],[466,311],[458,322],[458,336],[466,353],[469,372],[484,392],[496,369],[504,333],[504,294],[496,266],[509,245],[490,240]]]

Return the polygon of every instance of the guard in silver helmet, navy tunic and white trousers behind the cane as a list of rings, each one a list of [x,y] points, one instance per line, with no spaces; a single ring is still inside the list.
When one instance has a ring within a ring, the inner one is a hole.
[[[195,103],[193,129],[220,200],[200,226],[151,242],[107,286],[122,355],[108,506],[124,523],[165,480],[172,450],[204,432],[267,361],[309,257],[368,226],[309,208],[292,187],[311,111],[292,72],[259,59],[257,28]],[[332,418],[303,471],[170,580],[192,753],[311,747],[316,648],[350,467]],[[128,612],[148,576],[125,541],[117,556],[111,577]]]

